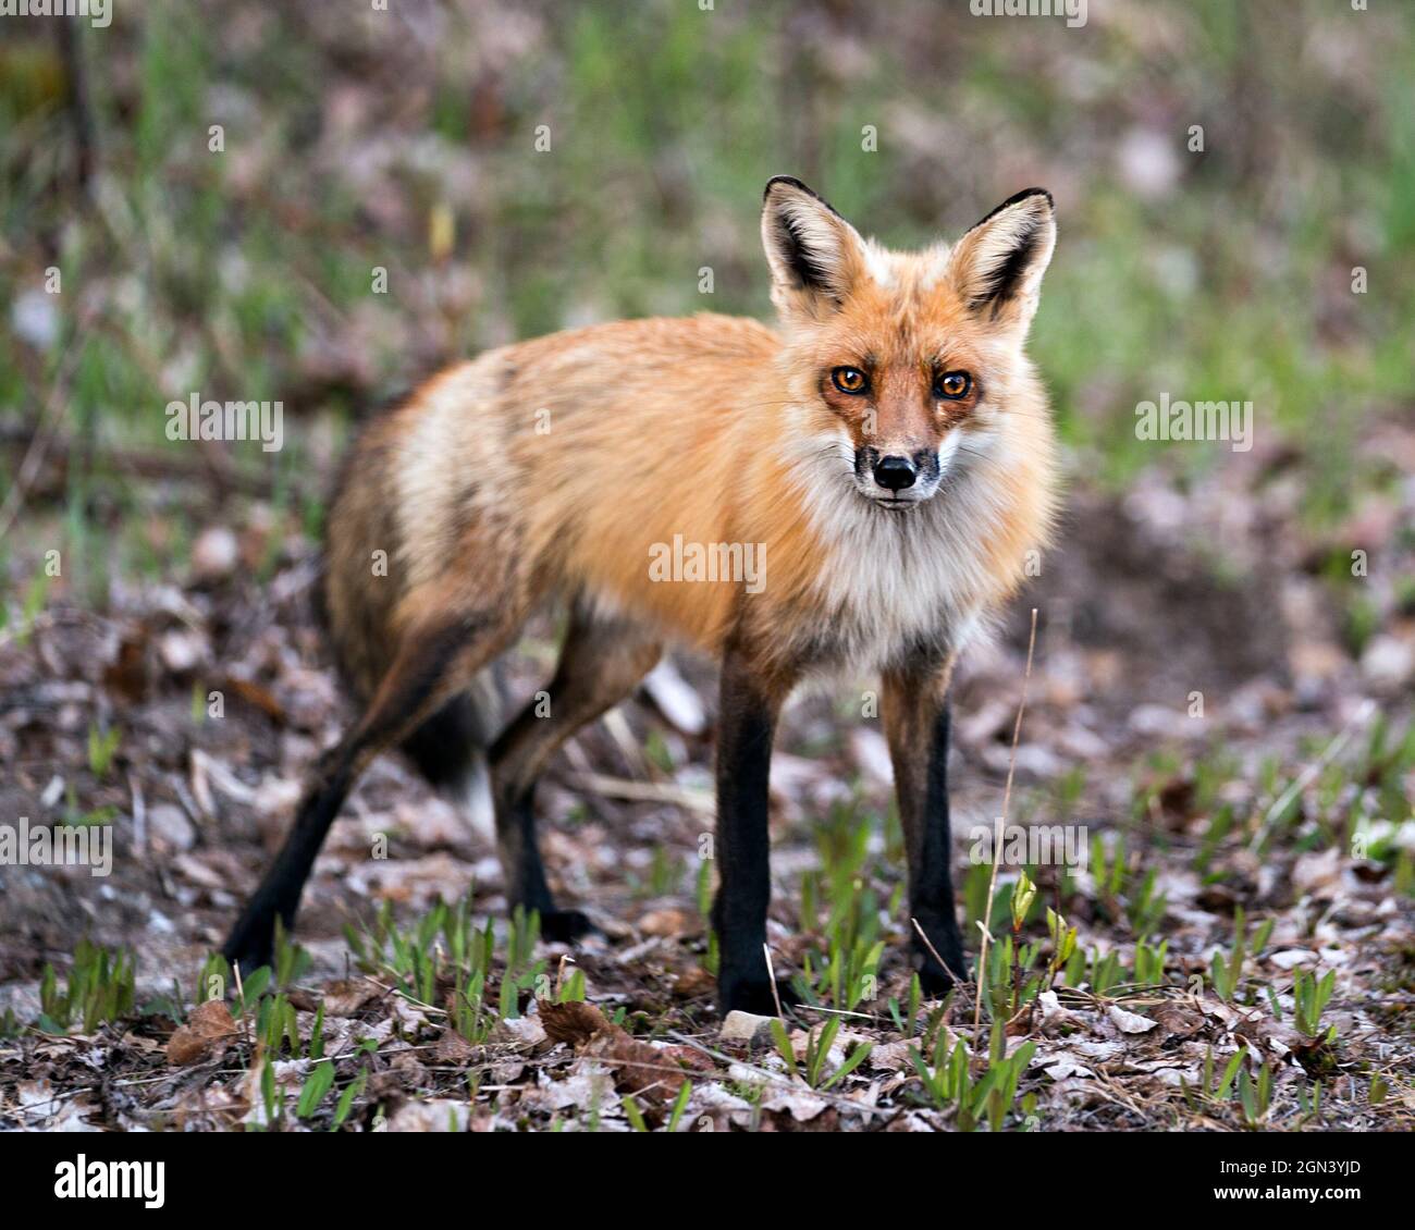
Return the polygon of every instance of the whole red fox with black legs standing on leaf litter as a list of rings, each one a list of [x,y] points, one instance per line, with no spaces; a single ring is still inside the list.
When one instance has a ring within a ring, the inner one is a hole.
[[[1023,352],[1051,195],[1030,188],[952,246],[896,253],[778,176],[761,236],[775,330],[699,314],[558,333],[443,371],[362,432],[323,590],[362,716],[321,757],[228,958],[269,960],[345,795],[395,745],[440,786],[490,769],[509,903],[538,910],[546,937],[583,934],[546,883],[536,778],[665,643],[688,643],[722,668],[722,1011],[774,1011],[771,740],[792,688],[842,668],[882,675],[921,981],[938,994],[962,977],[948,684],[1053,518],[1053,427]],[[729,566],[665,577],[668,544]],[[737,575],[744,555],[753,577]],[[549,702],[498,730],[478,679],[549,602],[570,611]]]

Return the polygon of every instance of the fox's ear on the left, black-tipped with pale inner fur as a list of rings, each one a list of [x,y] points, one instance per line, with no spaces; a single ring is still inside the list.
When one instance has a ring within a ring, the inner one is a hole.
[[[784,313],[835,311],[865,266],[859,232],[799,180],[777,176],[761,207],[771,301]]]

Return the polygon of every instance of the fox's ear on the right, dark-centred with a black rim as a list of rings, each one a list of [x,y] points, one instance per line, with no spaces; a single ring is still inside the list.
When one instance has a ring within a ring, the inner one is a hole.
[[[1051,194],[1027,188],[1003,201],[948,258],[948,280],[971,311],[1024,331],[1051,263],[1057,224]]]

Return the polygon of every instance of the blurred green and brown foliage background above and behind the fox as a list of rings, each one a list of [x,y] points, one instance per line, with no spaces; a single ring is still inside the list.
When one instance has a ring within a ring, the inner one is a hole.
[[[350,416],[440,362],[617,316],[764,314],[775,173],[894,245],[1051,188],[1033,352],[1078,477],[1124,485],[1157,460],[1136,401],[1251,399],[1262,446],[1300,459],[1302,515],[1337,518],[1354,487],[1399,480],[1357,474],[1353,442],[1412,396],[1415,11],[1371,10],[1092,0],[1068,28],[966,0],[115,0],[106,28],[4,18],[0,473],[33,474],[0,551],[62,534],[100,603],[109,565],[180,555],[197,518],[154,512],[253,491],[317,528]],[[164,406],[192,391],[282,399],[284,449],[204,446],[184,481],[195,450],[167,442]]]

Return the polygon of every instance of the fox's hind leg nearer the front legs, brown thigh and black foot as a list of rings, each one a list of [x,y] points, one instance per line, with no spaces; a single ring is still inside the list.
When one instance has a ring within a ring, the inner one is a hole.
[[[652,669],[662,644],[642,628],[576,606],[549,688],[532,698],[491,747],[497,849],[507,900],[541,914],[548,940],[590,930],[579,910],[558,910],[536,842],[535,786],[555,752],[623,701]]]

